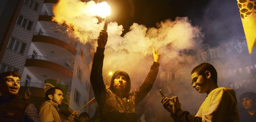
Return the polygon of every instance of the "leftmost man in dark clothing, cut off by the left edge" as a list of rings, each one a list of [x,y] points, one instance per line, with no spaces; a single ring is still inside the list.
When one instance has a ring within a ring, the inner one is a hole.
[[[0,121],[40,121],[34,104],[17,95],[19,89],[19,73],[6,71],[0,74]]]

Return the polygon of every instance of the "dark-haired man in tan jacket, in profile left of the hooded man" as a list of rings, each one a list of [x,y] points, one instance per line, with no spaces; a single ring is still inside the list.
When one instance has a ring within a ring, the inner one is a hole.
[[[39,117],[42,122],[55,121],[61,122],[59,108],[63,100],[63,91],[59,87],[52,87],[46,91],[46,102],[39,109]],[[65,121],[74,121],[79,111],[73,111]]]

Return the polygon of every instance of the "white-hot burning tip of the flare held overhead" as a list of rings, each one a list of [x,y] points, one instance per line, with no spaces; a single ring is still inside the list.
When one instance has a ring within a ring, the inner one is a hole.
[[[97,3],[92,11],[93,15],[100,16],[101,18],[105,18],[110,15],[110,6],[106,2]]]

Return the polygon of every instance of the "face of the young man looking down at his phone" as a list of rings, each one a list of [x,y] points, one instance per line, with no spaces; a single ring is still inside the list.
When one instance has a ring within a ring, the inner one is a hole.
[[[191,74],[192,87],[196,89],[199,93],[205,93],[209,89],[208,82],[203,75],[199,75],[196,72]]]

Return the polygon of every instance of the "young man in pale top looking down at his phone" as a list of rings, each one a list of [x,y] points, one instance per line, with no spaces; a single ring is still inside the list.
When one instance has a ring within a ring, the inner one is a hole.
[[[217,85],[217,71],[213,65],[203,63],[191,71],[192,87],[199,93],[206,93],[196,116],[181,110],[177,96],[164,97],[161,102],[175,121],[239,121],[236,92]]]

